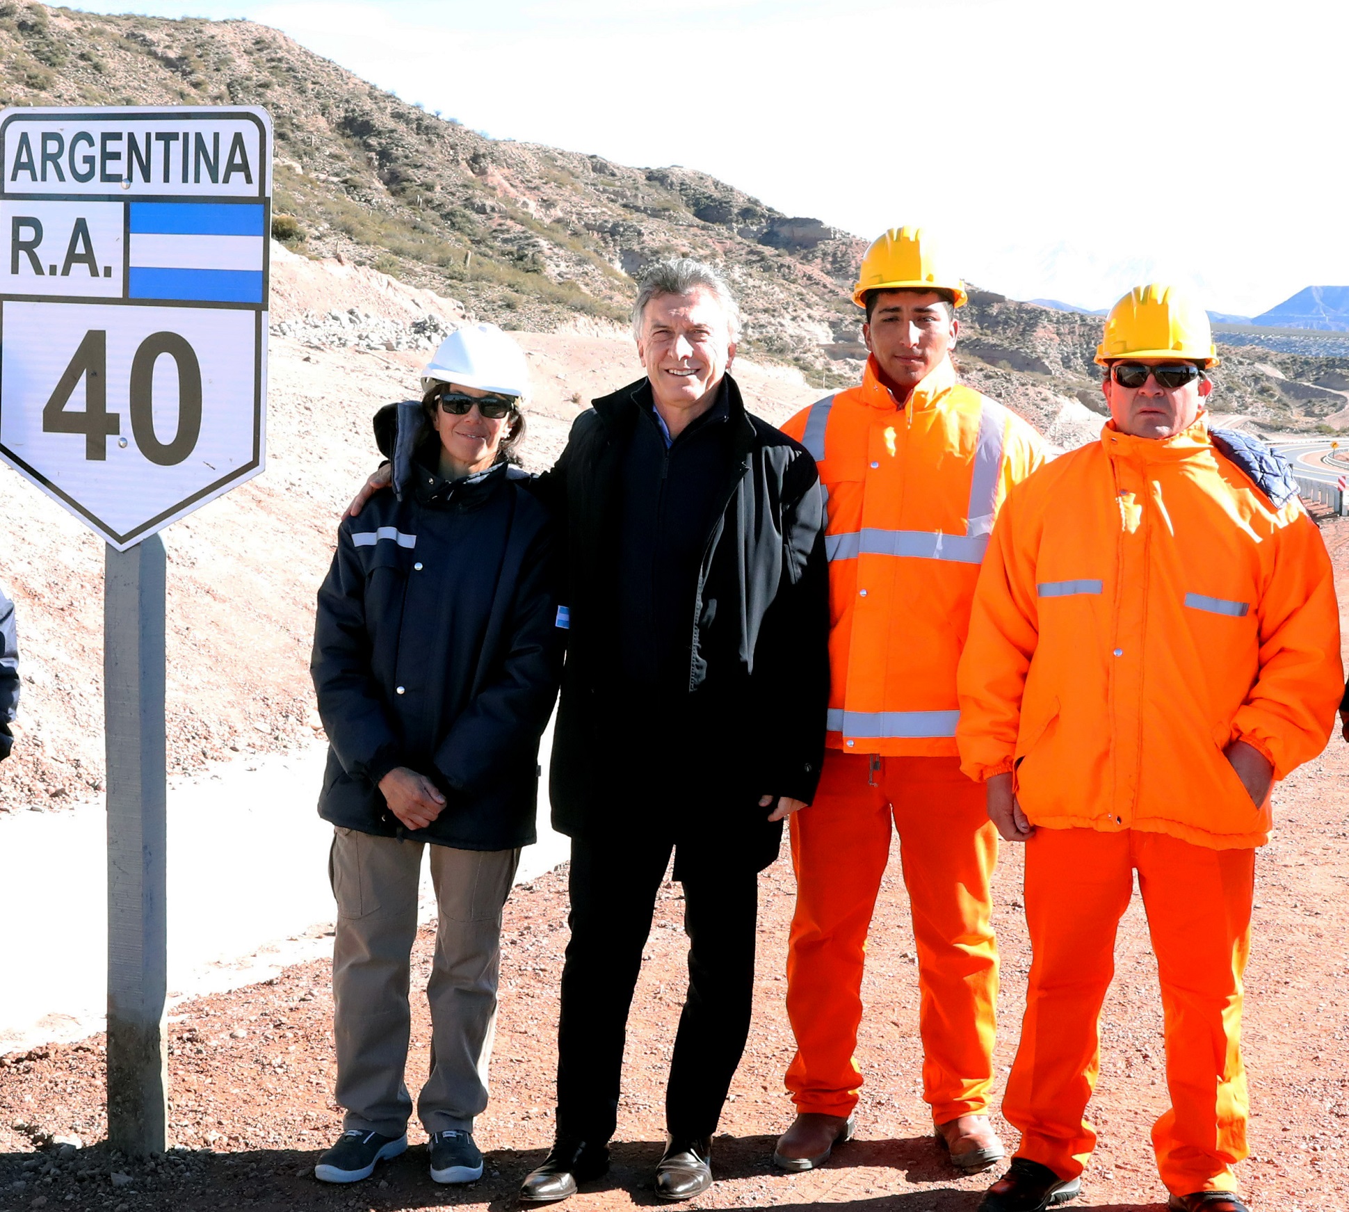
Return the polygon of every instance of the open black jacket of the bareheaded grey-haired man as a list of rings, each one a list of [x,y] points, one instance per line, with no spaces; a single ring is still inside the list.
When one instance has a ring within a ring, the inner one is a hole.
[[[761,795],[809,802],[828,706],[828,566],[815,462],[746,412],[727,377],[731,459],[687,621],[687,679],[672,713],[615,694],[616,503],[625,453],[650,385],[633,383],[576,418],[536,483],[564,543],[569,617],[549,791],[571,835],[673,830],[727,857],[772,861],[780,826]],[[639,710],[638,710],[639,709]]]

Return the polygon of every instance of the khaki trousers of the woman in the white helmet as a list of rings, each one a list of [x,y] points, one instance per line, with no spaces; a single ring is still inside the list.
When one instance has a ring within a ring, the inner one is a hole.
[[[335,830],[328,860],[337,898],[333,1037],[345,1130],[401,1136],[411,1115],[403,1069],[424,849],[424,842]],[[519,850],[430,846],[440,916],[426,984],[430,1076],[417,1100],[428,1132],[472,1131],[473,1116],[487,1107],[502,906],[518,864]]]

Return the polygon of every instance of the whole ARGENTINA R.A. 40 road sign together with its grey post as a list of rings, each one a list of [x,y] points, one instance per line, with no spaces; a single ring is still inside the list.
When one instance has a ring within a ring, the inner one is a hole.
[[[108,544],[108,1139],[167,1145],[165,548],[263,470],[271,124],[0,113],[0,459]]]

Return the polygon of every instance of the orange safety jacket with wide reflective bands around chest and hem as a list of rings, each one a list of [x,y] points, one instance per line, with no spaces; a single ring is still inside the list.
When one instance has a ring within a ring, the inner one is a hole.
[[[943,360],[896,404],[867,359],[859,387],[782,431],[828,498],[830,710],[849,753],[954,757],[955,668],[993,520],[1044,451],[1020,417]]]

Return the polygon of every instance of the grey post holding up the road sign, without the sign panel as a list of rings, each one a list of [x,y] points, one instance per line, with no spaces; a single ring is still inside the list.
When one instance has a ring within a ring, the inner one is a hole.
[[[169,1127],[163,541],[104,567],[108,1143],[143,1157]]]

